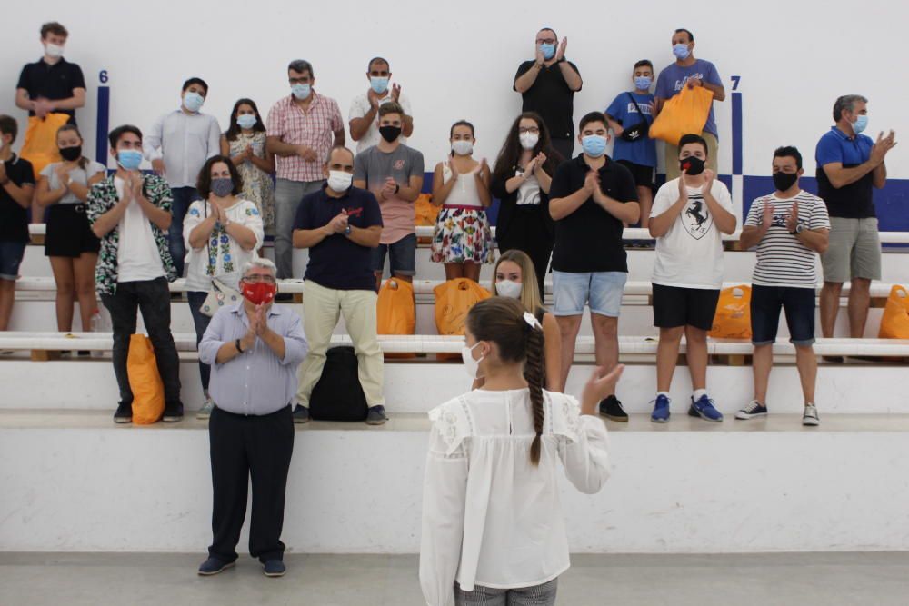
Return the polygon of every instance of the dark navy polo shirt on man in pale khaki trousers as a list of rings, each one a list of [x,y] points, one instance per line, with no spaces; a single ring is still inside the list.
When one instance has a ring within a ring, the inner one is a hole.
[[[317,229],[334,219],[341,209],[347,223],[365,229],[382,225],[382,211],[375,195],[351,187],[340,198],[325,193],[325,187],[305,196],[296,210],[294,229]],[[353,242],[344,233],[333,233],[309,249],[305,280],[339,291],[375,291],[373,249]]]

